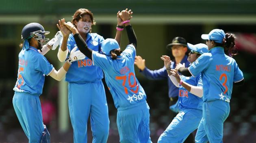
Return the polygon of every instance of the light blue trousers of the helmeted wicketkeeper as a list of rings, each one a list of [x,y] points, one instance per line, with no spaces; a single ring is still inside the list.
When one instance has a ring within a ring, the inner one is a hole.
[[[40,143],[44,126],[39,95],[15,92],[13,107],[29,143]]]

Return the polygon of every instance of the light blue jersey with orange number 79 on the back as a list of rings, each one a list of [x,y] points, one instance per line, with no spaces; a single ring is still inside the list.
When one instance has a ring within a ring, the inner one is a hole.
[[[145,102],[146,94],[141,84],[135,77],[134,59],[136,50],[133,45],[128,45],[117,56],[117,59],[111,59],[93,51],[93,64],[102,68],[105,75],[106,84],[113,97],[115,107],[118,109],[129,109],[138,103]]]

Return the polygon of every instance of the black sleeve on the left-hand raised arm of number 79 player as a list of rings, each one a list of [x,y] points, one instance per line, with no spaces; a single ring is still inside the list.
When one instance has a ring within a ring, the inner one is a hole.
[[[92,59],[91,54],[92,50],[87,46],[85,40],[82,39],[79,33],[74,35],[76,46],[78,49],[89,59]]]

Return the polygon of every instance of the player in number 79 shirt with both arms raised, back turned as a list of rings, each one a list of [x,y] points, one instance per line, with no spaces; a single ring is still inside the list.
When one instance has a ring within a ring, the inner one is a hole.
[[[135,77],[134,59],[136,55],[137,38],[130,25],[130,13],[126,10],[119,13],[130,44],[124,52],[114,39],[106,39],[102,42],[103,54],[88,48],[76,27],[72,23],[63,23],[74,34],[74,39],[79,49],[93,65],[102,68],[105,74],[106,84],[110,90],[115,107],[117,108],[117,127],[121,143],[151,143],[149,130],[149,106],[146,95]],[[123,30],[117,27],[117,30]]]

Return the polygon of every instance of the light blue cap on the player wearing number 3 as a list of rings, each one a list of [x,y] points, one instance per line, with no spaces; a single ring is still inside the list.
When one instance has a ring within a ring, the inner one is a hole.
[[[217,43],[222,43],[225,38],[225,32],[221,29],[213,29],[209,34],[202,34],[204,40],[213,40]]]

